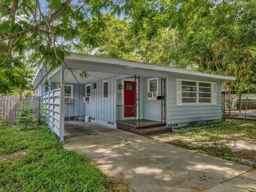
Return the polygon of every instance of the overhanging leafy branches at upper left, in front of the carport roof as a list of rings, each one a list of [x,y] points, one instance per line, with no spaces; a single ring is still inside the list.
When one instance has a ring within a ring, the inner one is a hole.
[[[1,0],[0,93],[8,94],[15,88],[28,89],[31,74],[40,65],[49,65],[53,70],[64,64],[70,69],[64,57],[79,37],[79,29],[86,34],[83,39],[86,45],[93,45],[102,21],[91,18],[102,11],[120,15],[130,7],[128,2]]]

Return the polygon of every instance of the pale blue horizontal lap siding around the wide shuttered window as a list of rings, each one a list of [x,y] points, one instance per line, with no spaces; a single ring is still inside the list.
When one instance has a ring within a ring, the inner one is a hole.
[[[205,82],[216,82],[217,83],[217,104],[192,104],[192,105],[176,105],[176,79],[184,80],[196,80]],[[212,78],[199,77],[199,76],[188,76],[168,74],[168,90],[167,90],[167,108],[166,108],[166,122],[167,124],[177,124],[177,127],[186,126],[190,122],[205,122],[213,120],[218,122],[222,118],[221,112],[221,80],[213,80]]]

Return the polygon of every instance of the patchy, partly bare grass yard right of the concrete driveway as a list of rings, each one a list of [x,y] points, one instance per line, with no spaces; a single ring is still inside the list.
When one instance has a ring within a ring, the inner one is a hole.
[[[256,168],[255,158],[251,158],[244,152],[233,152],[232,149],[225,145],[228,141],[249,141],[256,140],[256,121],[254,120],[236,120],[236,124],[223,124],[219,127],[212,127],[208,129],[194,129],[189,133],[174,133],[173,135],[187,136],[192,142],[210,142],[212,147],[200,146],[198,148],[191,148],[187,143],[181,140],[168,142],[174,146],[194,150],[195,152],[208,154],[218,158],[230,160],[236,163],[244,164]]]

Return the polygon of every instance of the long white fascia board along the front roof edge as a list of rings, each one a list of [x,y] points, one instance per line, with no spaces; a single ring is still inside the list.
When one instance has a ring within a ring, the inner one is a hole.
[[[180,68],[174,68],[174,67],[169,67],[169,66],[160,66],[160,65],[155,65],[155,64],[148,64],[148,63],[135,62],[135,61],[129,61],[129,60],[121,60],[121,59],[116,59],[116,58],[106,58],[106,57],[102,57],[102,56],[94,56],[94,55],[88,55],[88,54],[72,53],[71,56],[68,57],[68,59],[114,64],[114,65],[119,65],[119,66],[128,66],[128,67],[134,67],[134,68],[158,70],[158,71],[180,73],[180,74],[190,74],[190,75],[195,75],[195,76],[220,79],[222,81],[236,80],[236,78],[233,76],[222,76],[222,75],[216,75],[216,74],[208,74],[208,73],[197,72],[197,71],[193,71],[193,70],[180,69]]]

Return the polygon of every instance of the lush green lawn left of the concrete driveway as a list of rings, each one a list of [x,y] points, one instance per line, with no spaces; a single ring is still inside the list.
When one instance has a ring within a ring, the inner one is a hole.
[[[23,156],[8,154],[27,149]],[[2,157],[2,158],[1,158]],[[1,160],[7,157],[7,160]],[[0,124],[0,192],[109,192],[108,180],[84,156],[64,150],[48,126]]]

